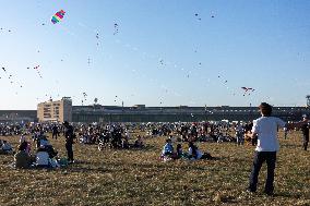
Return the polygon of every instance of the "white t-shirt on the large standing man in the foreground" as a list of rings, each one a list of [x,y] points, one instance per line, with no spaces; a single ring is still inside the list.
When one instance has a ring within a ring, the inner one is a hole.
[[[286,123],[275,117],[261,117],[253,121],[252,132],[258,134],[257,152],[277,152],[279,148],[277,129]]]

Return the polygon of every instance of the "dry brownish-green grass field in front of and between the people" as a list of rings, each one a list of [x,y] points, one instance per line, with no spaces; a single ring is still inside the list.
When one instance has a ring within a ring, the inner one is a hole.
[[[17,136],[1,138],[17,145]],[[272,197],[262,193],[265,166],[258,193],[245,192],[250,145],[200,143],[217,159],[162,162],[165,137],[150,137],[142,150],[99,152],[96,145],[75,144],[78,162],[56,170],[11,169],[13,156],[1,155],[0,205],[310,205],[310,152],[301,149],[298,132],[279,138]],[[50,142],[64,157],[63,138]]]

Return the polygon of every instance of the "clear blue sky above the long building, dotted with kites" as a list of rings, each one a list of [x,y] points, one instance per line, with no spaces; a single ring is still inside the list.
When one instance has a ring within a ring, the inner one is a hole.
[[[307,0],[1,0],[0,11],[0,109],[63,96],[303,106],[310,94]],[[243,96],[242,86],[255,90]]]

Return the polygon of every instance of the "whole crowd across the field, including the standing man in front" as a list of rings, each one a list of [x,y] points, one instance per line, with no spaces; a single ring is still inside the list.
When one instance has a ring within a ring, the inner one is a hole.
[[[65,121],[62,123],[1,123],[0,135],[7,136],[7,140],[0,140],[0,154],[14,154],[15,168],[56,168],[74,163],[74,143],[95,144],[99,150],[143,149],[145,146],[144,136],[151,138],[169,136],[160,154],[163,161],[169,161],[176,159],[214,159],[210,153],[202,152],[198,147],[196,143],[199,142],[230,142],[238,146],[248,142],[255,146],[249,191],[257,191],[258,175],[262,163],[266,161],[267,180],[264,192],[271,195],[274,190],[278,129],[284,129],[285,140],[289,130],[300,130],[303,140],[302,149],[307,150],[310,126],[306,114],[302,117],[302,121],[298,123],[286,123],[279,118],[271,116],[272,106],[269,104],[263,102],[259,108],[262,117],[252,122],[70,124]],[[63,136],[67,158],[58,157],[57,150],[47,138],[48,133],[51,133],[51,137],[55,140]],[[8,136],[13,135],[21,136],[16,152],[8,142]],[[176,149],[175,143],[177,144]],[[187,150],[183,149],[184,144],[187,144]]]

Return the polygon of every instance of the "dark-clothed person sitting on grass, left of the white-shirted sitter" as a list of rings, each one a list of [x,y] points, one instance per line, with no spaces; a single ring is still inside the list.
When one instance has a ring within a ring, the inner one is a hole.
[[[27,143],[23,142],[19,146],[19,152],[14,155],[15,168],[28,169],[32,165],[32,157],[26,152]]]

